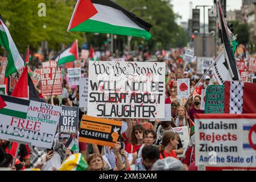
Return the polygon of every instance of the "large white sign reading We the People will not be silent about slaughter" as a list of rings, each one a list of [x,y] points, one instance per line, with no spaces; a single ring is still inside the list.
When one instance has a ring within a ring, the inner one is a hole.
[[[90,61],[88,115],[164,118],[165,63]]]

